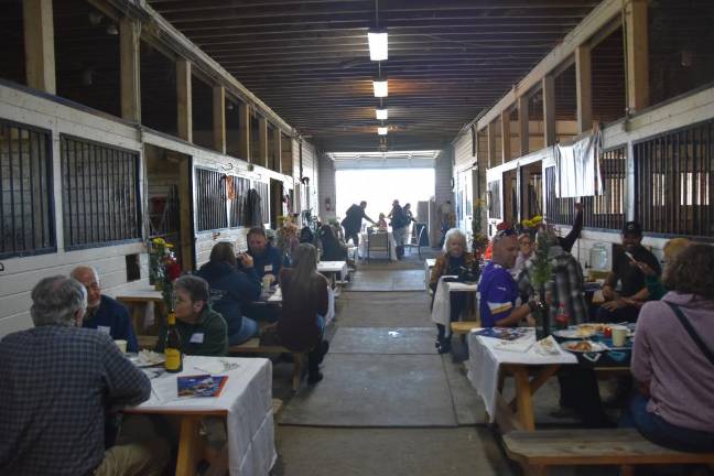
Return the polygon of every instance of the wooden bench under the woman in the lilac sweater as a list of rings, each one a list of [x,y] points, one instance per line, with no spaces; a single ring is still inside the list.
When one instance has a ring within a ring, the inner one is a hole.
[[[513,431],[504,444],[526,475],[545,475],[550,466],[616,465],[620,475],[631,476],[636,465],[714,463],[714,453],[668,450],[635,429]]]

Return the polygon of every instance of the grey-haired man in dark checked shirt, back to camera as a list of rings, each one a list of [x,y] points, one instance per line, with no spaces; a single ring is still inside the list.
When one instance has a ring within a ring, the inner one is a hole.
[[[45,278],[32,290],[35,327],[0,340],[4,476],[162,474],[169,448],[150,432],[133,441],[120,433],[105,450],[109,409],[143,402],[151,383],[108,335],[82,328],[86,305],[80,283]]]

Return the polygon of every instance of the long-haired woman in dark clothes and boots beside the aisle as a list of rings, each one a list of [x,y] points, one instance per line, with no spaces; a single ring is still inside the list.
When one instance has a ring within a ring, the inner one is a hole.
[[[293,268],[280,271],[283,315],[278,322],[280,343],[292,351],[307,351],[307,382],[317,383],[329,345],[323,339],[327,314],[327,279],[317,272],[317,250],[303,244],[293,253]]]

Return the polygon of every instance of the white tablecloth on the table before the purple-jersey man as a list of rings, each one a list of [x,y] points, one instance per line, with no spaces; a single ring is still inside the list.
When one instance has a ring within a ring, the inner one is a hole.
[[[468,335],[468,380],[472,382],[478,394],[484,399],[484,405],[488,412],[489,421],[493,423],[496,419],[496,397],[498,392],[498,371],[501,364],[521,364],[521,365],[551,365],[551,364],[577,364],[577,358],[566,351],[558,348],[559,354],[543,356],[531,347],[526,353],[499,350],[495,346],[500,342],[494,337],[477,336],[474,329]],[[536,331],[531,329],[528,336],[521,337],[536,342]]]

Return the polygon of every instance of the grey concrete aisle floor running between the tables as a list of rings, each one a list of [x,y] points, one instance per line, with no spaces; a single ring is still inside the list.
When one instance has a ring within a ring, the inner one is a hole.
[[[515,474],[462,366],[435,351],[423,264],[409,261],[363,266],[355,284],[418,291],[343,292],[325,379],[279,418],[273,475]]]

